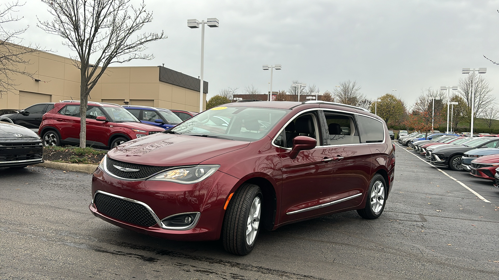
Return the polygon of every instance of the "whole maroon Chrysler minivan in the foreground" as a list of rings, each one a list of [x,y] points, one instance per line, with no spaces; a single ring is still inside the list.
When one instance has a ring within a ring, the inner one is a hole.
[[[123,228],[222,238],[246,255],[260,228],[348,210],[378,218],[394,167],[386,124],[362,108],[238,102],[110,150],[93,174],[89,208]]]

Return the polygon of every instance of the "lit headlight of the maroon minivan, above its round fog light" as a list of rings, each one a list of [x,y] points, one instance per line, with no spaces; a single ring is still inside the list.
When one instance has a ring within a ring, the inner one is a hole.
[[[154,176],[150,180],[170,181],[179,184],[194,184],[210,177],[210,175],[215,173],[219,168],[220,165],[214,164],[170,169]]]

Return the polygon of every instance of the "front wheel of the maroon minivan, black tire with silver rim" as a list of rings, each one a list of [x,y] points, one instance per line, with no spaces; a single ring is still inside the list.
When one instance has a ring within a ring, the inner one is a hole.
[[[227,252],[244,256],[253,250],[260,230],[262,198],[260,187],[253,184],[243,184],[232,197],[222,226]]]

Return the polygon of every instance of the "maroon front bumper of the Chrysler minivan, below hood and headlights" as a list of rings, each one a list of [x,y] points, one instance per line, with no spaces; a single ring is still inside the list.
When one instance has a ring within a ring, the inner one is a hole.
[[[92,197],[96,192],[104,192],[146,205],[156,223],[139,225],[106,215],[103,213],[105,211],[99,211],[99,206],[93,199],[89,209],[104,221],[151,236],[185,241],[218,240],[225,215],[225,202],[238,182],[239,179],[221,171],[216,171],[196,184],[126,181],[111,177],[97,168],[92,178]],[[181,213],[199,213],[195,226],[185,230],[173,230],[159,225],[162,219]]]

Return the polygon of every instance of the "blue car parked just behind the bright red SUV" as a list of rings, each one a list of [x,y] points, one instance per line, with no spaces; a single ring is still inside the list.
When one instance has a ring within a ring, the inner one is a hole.
[[[183,122],[182,119],[168,109],[136,105],[124,105],[122,107],[132,113],[141,123],[158,126],[165,130]]]

